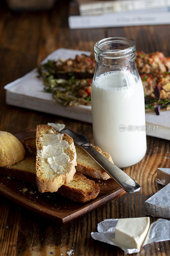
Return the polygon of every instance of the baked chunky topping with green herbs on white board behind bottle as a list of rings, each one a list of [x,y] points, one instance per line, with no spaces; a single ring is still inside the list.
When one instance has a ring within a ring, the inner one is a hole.
[[[170,58],[162,52],[137,52],[137,70],[144,86],[145,108],[170,108]],[[45,84],[44,90],[63,106],[91,105],[91,85],[96,62],[94,54],[76,56],[75,59],[48,60],[38,67]]]

